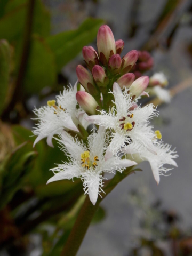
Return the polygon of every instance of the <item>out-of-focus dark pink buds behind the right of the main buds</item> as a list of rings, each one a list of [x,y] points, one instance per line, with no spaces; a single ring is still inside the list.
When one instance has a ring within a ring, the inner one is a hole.
[[[131,71],[134,73],[135,78],[142,76],[144,72],[153,68],[154,61],[150,53],[147,51],[138,51],[139,57]]]

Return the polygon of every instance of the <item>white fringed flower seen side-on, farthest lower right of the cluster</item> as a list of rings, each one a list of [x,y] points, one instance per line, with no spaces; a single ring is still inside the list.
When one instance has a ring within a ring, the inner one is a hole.
[[[163,142],[156,144],[155,148],[157,152],[156,155],[150,153],[148,150],[137,145],[136,143],[131,143],[130,145],[124,147],[122,151],[126,153],[127,159],[132,159],[137,163],[148,161],[154,178],[158,184],[160,181],[160,175],[164,175],[164,173],[171,170],[163,167],[163,165],[170,164],[177,167],[177,163],[173,159],[177,158],[178,155],[176,154],[177,152],[171,150],[170,145],[163,144]]]

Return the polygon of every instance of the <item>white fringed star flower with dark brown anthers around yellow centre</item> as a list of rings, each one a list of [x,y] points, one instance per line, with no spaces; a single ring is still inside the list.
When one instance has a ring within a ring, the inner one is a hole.
[[[156,140],[151,130],[152,126],[149,126],[149,120],[157,116],[153,104],[132,109],[129,89],[122,92],[117,83],[114,83],[113,94],[115,107],[109,113],[102,110],[101,115],[85,118],[87,121],[111,130],[112,140],[106,152],[106,160],[132,141],[156,154],[154,147]]]

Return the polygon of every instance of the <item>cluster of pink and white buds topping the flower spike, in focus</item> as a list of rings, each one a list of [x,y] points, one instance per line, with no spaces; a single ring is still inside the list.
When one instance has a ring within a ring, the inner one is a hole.
[[[98,102],[98,105],[101,92],[103,95],[107,94],[109,90],[112,90],[114,82],[117,82],[122,90],[124,86],[126,88],[130,87],[130,93],[132,93],[133,98],[138,97],[145,91],[149,78],[147,76],[138,76],[140,78],[135,80],[135,75],[130,72],[131,70],[136,70],[138,58],[143,60],[143,62],[140,61],[139,65],[143,66],[147,58],[149,65],[149,61],[152,59],[149,58],[150,55],[147,55],[147,52],[132,50],[121,57],[120,54],[124,49],[124,42],[121,39],[115,41],[113,32],[107,25],[99,28],[97,47],[98,51],[92,46],[83,47],[83,58],[89,70],[82,65],[78,65],[76,73],[78,81],[84,87],[85,92],[91,94]],[[81,103],[79,102],[81,106],[82,99],[84,99],[83,95],[85,96],[86,93],[78,93],[77,101],[81,98]],[[81,94],[82,97],[80,97]],[[94,102],[93,105],[95,106],[96,103]]]

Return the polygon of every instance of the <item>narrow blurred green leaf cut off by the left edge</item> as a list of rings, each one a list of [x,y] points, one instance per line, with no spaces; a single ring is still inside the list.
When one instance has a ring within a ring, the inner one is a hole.
[[[0,114],[4,108],[9,86],[10,46],[6,40],[0,40]]]

